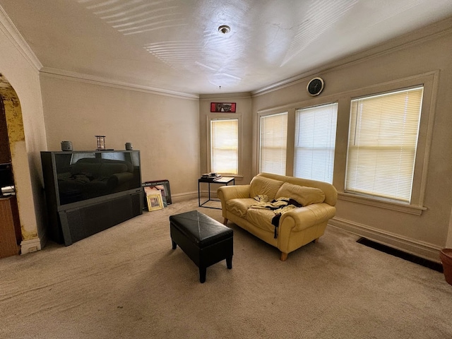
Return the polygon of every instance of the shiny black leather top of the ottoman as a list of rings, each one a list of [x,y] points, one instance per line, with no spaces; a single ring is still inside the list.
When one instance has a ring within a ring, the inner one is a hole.
[[[169,221],[201,248],[232,237],[233,233],[229,227],[197,210],[171,215]]]

